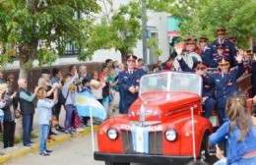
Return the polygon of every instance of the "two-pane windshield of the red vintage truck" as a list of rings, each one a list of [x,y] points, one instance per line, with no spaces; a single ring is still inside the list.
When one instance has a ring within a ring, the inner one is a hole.
[[[140,81],[140,93],[150,91],[180,91],[202,95],[202,78],[196,74],[164,72],[145,75]]]

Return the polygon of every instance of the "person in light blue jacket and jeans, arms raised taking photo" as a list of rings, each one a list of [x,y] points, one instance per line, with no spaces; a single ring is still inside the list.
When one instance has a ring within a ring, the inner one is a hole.
[[[50,129],[51,120],[51,108],[57,102],[57,90],[54,90],[53,99],[48,99],[46,89],[43,87],[38,88],[36,92],[37,110],[39,125],[41,128],[41,138],[39,145],[39,154],[42,156],[48,156],[51,150],[46,149],[47,136]]]

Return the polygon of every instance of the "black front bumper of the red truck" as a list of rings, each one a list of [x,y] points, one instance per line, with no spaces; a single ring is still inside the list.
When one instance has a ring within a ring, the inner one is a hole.
[[[186,164],[193,160],[193,156],[164,156],[164,155],[148,155],[148,154],[118,154],[103,153],[96,151],[95,160],[108,162],[135,162],[135,163],[152,163],[152,164]]]

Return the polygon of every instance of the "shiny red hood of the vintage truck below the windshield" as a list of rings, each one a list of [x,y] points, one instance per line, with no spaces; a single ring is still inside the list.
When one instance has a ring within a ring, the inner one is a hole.
[[[141,95],[130,107],[128,117],[131,122],[141,120],[142,104],[145,106],[145,122],[163,122],[176,112],[189,110],[191,106],[198,105],[200,96],[190,92],[154,91]]]

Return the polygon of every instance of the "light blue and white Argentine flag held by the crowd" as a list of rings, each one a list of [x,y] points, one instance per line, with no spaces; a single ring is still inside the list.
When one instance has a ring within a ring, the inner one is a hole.
[[[105,120],[106,118],[106,113],[102,104],[100,104],[100,102],[98,102],[96,98],[88,91],[77,93],[76,106],[79,116],[90,117],[90,108],[92,108],[93,117],[102,120]]]

